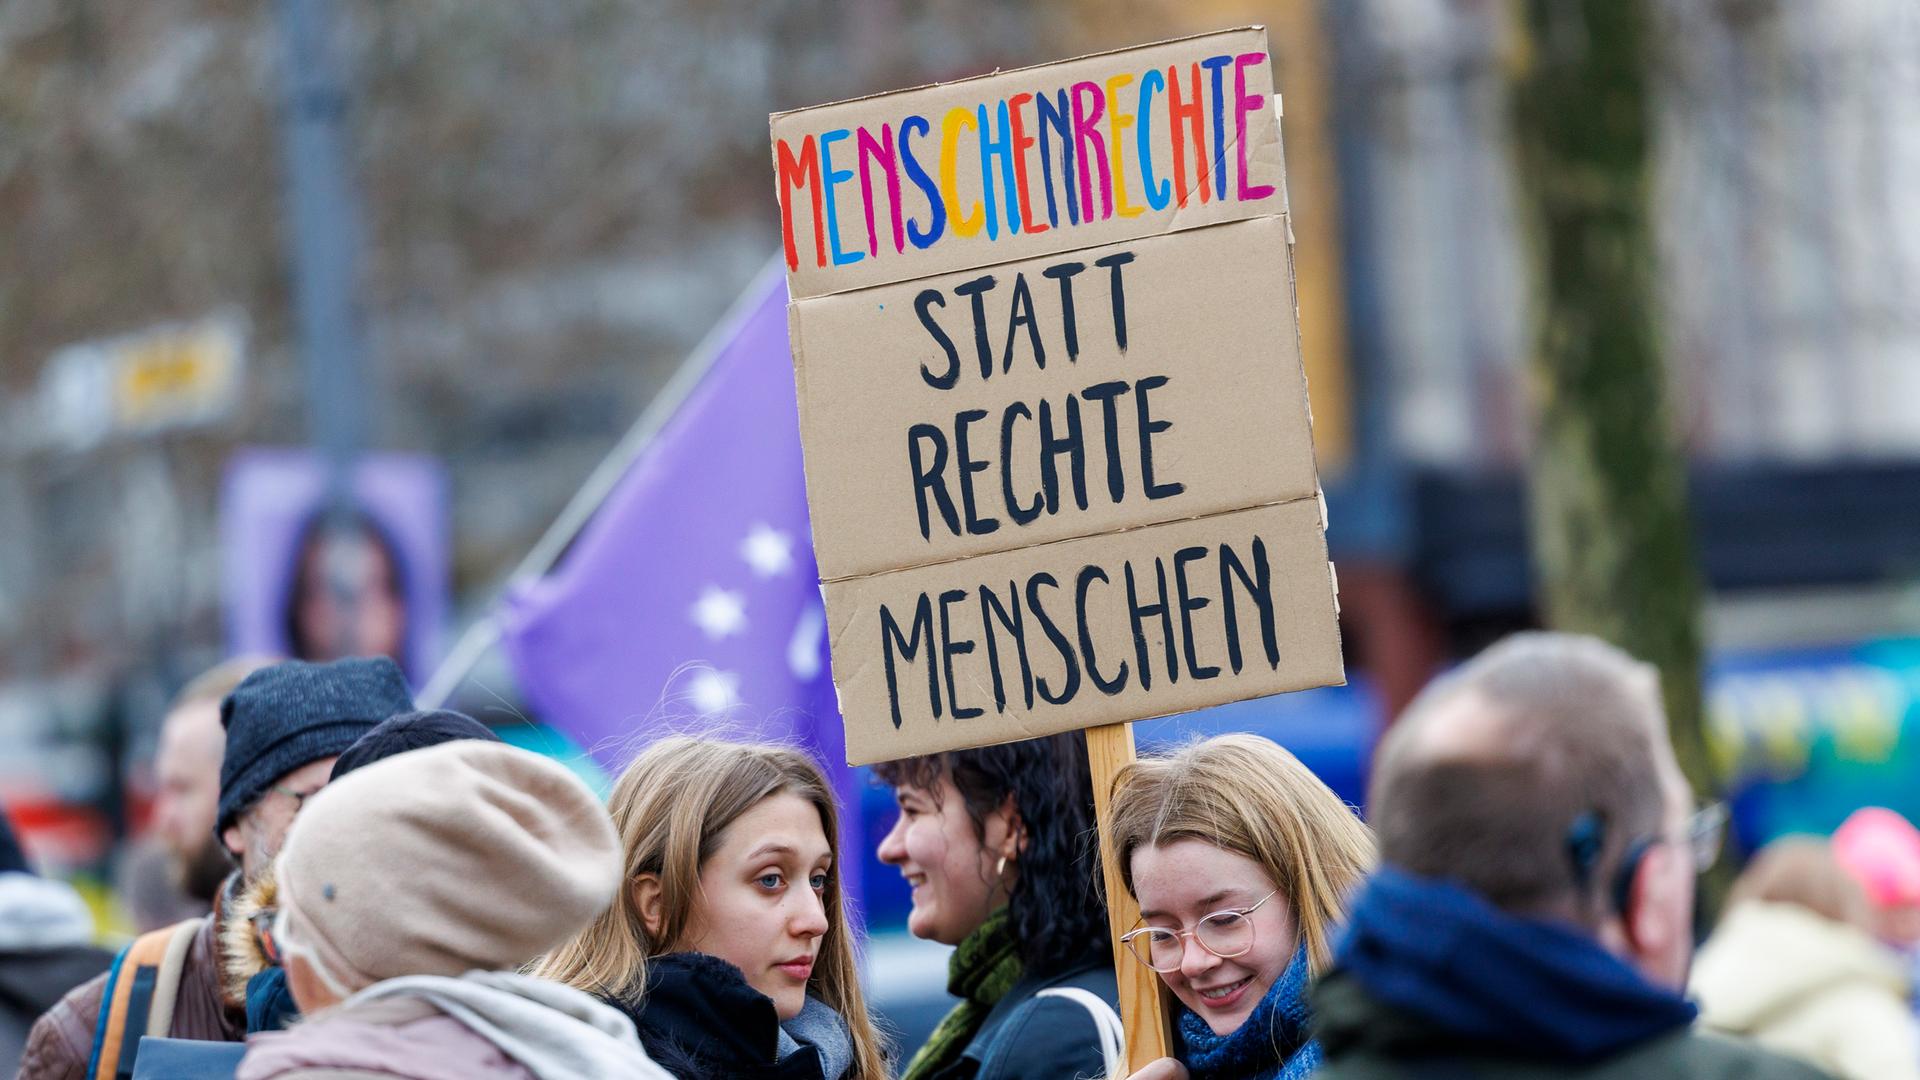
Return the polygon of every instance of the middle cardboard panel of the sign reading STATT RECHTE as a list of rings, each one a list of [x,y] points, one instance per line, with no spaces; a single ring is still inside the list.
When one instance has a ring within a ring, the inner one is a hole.
[[[1114,258],[1129,261],[1098,265]],[[1066,279],[1073,356],[1062,282],[1046,277],[1062,265],[1085,267]],[[983,277],[993,279],[991,290],[956,292]],[[927,304],[925,311],[952,354],[916,311],[916,298],[927,294],[943,304]],[[973,298],[985,313],[987,377]],[[1313,496],[1306,384],[1290,315],[1286,223],[1279,217],[793,304],[801,438],[822,578]],[[948,375],[950,388],[931,384]],[[1104,398],[1108,392],[1114,396]],[[1148,425],[1167,425],[1144,432],[1144,442],[1142,398]],[[1071,452],[1041,448],[1041,421],[1050,421],[1054,438],[1066,438],[1075,411],[1081,467]],[[962,429],[966,459],[983,465],[964,477]],[[1056,498],[1048,500],[1041,498],[1043,457],[1054,479]],[[935,461],[945,465],[935,471]],[[1035,507],[1033,521],[1018,521]]]

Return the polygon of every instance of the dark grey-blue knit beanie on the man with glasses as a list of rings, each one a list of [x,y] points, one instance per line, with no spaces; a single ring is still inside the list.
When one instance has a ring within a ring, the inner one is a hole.
[[[213,834],[225,832],[280,776],[334,757],[380,721],[411,711],[407,680],[386,657],[290,659],[246,676],[221,701],[227,759]]]

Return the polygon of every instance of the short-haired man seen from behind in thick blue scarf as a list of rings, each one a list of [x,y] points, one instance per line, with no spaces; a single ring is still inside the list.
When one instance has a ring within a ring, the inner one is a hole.
[[[1649,665],[1517,634],[1428,686],[1380,742],[1380,869],[1313,995],[1321,1080],[1811,1080],[1693,1028],[1693,886],[1724,815],[1692,811]]]

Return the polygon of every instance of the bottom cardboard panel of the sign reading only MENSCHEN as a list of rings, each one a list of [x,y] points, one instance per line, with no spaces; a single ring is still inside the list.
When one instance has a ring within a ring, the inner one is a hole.
[[[1229,569],[1223,550],[1256,584],[1265,571],[1263,598]],[[1133,605],[1142,611],[1139,632]],[[829,582],[826,607],[847,753],[856,765],[1342,680],[1332,577],[1313,498]],[[1206,669],[1217,671],[1194,675]]]

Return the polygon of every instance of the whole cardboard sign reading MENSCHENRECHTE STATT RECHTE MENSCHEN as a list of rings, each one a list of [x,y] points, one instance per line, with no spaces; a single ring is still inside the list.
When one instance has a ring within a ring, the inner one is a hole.
[[[778,113],[852,763],[1342,678],[1265,33]]]

